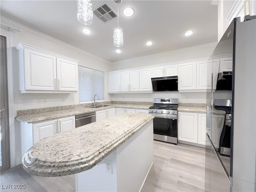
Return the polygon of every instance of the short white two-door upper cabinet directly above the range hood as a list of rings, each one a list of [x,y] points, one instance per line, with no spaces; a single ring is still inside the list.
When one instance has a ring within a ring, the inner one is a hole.
[[[159,66],[152,68],[152,77],[168,77],[178,75],[178,65]]]

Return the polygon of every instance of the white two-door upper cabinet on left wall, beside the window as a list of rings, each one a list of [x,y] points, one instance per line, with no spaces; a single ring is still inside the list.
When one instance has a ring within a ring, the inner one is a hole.
[[[21,93],[78,91],[78,61],[26,44],[18,44]]]

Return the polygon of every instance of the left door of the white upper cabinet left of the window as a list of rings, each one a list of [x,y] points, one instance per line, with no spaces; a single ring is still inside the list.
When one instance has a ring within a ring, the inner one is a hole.
[[[56,90],[56,57],[24,49],[24,81],[25,90]]]

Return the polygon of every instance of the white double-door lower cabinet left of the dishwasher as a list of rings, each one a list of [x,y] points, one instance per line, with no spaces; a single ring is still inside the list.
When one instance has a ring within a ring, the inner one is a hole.
[[[75,117],[66,117],[33,124],[33,144],[45,137],[65,132],[76,127]]]

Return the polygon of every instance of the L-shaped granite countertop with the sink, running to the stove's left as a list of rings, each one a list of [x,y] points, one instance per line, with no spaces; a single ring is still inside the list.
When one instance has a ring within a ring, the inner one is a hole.
[[[139,104],[108,104],[106,107],[100,108],[90,108],[90,107],[80,107],[64,110],[54,110],[50,112],[41,112],[27,115],[17,116],[15,119],[18,121],[26,123],[37,123],[46,120],[64,118],[68,116],[75,116],[89,112],[95,112],[110,108],[130,108],[130,109],[148,109],[151,105],[139,105]]]

